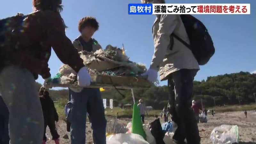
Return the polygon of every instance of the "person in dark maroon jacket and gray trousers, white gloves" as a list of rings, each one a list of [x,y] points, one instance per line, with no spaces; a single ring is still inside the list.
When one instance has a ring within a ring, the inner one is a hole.
[[[83,60],[65,34],[61,0],[32,2],[31,14],[0,20],[0,91],[10,112],[12,144],[42,144],[44,117],[35,80],[41,75],[44,86],[51,88],[52,48],[76,71],[79,86],[91,84]]]

